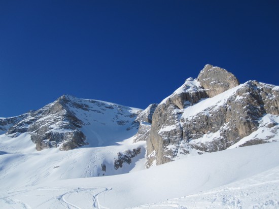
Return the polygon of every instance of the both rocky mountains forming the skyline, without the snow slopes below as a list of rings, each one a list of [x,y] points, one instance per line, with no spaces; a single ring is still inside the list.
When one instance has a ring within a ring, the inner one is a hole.
[[[279,87],[257,81],[239,84],[226,69],[206,64],[197,79],[186,79],[145,110],[64,94],[38,111],[1,118],[0,131],[9,137],[29,133],[38,151],[113,145],[133,136],[134,143],[147,142],[146,167],[152,167],[190,152],[227,149],[258,130],[261,120],[270,119],[274,138],[278,92]],[[254,137],[245,143],[269,141]]]

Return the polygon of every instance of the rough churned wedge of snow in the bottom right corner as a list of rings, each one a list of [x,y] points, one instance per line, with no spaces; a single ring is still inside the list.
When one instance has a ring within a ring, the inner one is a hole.
[[[278,208],[279,167],[208,191],[134,208]]]

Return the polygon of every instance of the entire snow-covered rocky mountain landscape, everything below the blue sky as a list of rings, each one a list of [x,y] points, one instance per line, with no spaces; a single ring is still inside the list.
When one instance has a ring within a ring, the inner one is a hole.
[[[0,118],[0,207],[279,207],[278,107],[212,65],[146,110],[63,95]]]

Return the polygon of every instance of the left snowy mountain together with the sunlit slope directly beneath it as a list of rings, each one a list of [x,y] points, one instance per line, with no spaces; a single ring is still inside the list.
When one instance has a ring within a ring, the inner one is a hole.
[[[133,122],[140,112],[111,102],[64,95],[26,114],[23,120],[3,119],[4,125],[15,122],[0,135],[2,188],[144,169],[146,143],[133,143],[138,127]],[[61,151],[61,146],[71,142],[71,133],[77,131],[85,136],[85,145]],[[32,136],[46,145],[40,152]]]

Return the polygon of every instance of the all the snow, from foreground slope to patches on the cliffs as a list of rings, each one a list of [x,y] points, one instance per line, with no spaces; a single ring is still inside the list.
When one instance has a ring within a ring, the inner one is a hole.
[[[197,87],[196,82],[186,80],[187,85],[176,93]],[[208,108],[223,105],[239,88],[241,85],[187,107],[182,117],[208,114]],[[81,130],[89,145],[38,152],[27,133],[14,138],[0,135],[0,208],[279,207],[279,142],[274,142],[279,139],[279,116],[264,115],[257,131],[225,151],[198,155],[192,149],[189,155],[178,153],[173,162],[145,169],[146,142],[133,143],[137,129],[127,130],[136,117],[131,114],[140,109],[71,99],[91,110],[69,106],[85,124]],[[123,123],[119,125],[119,121]],[[69,131],[59,129],[58,123],[51,126],[51,131]],[[166,126],[159,132],[175,127]],[[206,143],[216,137],[220,137],[220,131],[204,134],[197,141]],[[272,143],[239,147],[257,137]],[[141,153],[130,164],[114,168],[118,153],[138,147]],[[155,151],[149,157],[154,156]]]

